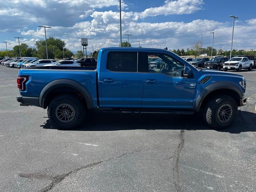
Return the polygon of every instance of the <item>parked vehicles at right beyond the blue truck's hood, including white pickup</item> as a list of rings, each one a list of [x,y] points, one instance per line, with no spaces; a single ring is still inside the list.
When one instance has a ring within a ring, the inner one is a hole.
[[[237,70],[241,71],[242,69],[252,70],[256,68],[256,56],[246,56],[238,55],[229,59],[224,56],[213,56],[209,58],[192,58],[192,57],[182,57],[184,60],[189,62],[195,67],[216,69],[224,71],[228,70]]]

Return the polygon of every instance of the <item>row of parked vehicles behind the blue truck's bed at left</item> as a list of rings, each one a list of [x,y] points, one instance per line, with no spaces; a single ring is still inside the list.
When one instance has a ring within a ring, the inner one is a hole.
[[[70,66],[70,67],[80,67],[80,66],[96,66],[96,58],[78,58],[77,60],[46,60],[39,58],[0,58],[0,64],[12,68],[27,68],[36,66]]]

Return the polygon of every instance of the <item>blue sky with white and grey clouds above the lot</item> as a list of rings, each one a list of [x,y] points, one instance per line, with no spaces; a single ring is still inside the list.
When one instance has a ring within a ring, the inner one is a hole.
[[[0,42],[8,48],[20,42],[34,47],[36,40],[60,38],[67,48],[80,50],[80,38],[88,38],[88,52],[119,46],[119,0],[0,0]],[[233,18],[234,49],[256,49],[255,0],[122,0],[122,34],[132,34],[133,47],[191,48],[201,40],[203,47],[228,50]],[[127,41],[127,36],[122,36]],[[159,46],[160,45],[160,46]],[[5,48],[0,43],[0,49]]]

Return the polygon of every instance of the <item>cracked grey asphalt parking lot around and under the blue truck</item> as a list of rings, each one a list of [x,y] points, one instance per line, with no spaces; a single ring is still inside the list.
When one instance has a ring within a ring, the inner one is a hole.
[[[234,125],[198,115],[92,112],[58,130],[46,110],[16,102],[18,69],[0,66],[1,192],[256,191],[256,70]]]

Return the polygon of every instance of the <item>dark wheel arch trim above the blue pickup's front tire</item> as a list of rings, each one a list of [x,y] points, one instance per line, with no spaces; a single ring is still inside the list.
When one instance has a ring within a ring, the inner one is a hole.
[[[231,96],[236,101],[237,106],[240,106],[240,98],[243,97],[243,91],[234,83],[228,82],[218,82],[215,84],[211,84],[204,88],[202,92],[196,98],[196,102],[194,104],[194,110],[199,112],[202,109],[206,102],[217,94],[225,94]]]

